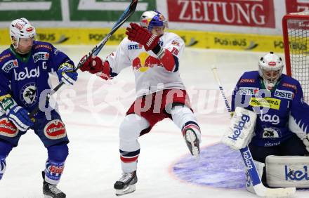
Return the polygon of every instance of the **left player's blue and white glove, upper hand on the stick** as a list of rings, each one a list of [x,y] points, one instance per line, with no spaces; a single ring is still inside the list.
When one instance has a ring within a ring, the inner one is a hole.
[[[74,65],[69,62],[63,62],[57,71],[59,81],[63,81],[67,85],[73,85],[77,81],[77,72],[74,72]]]

